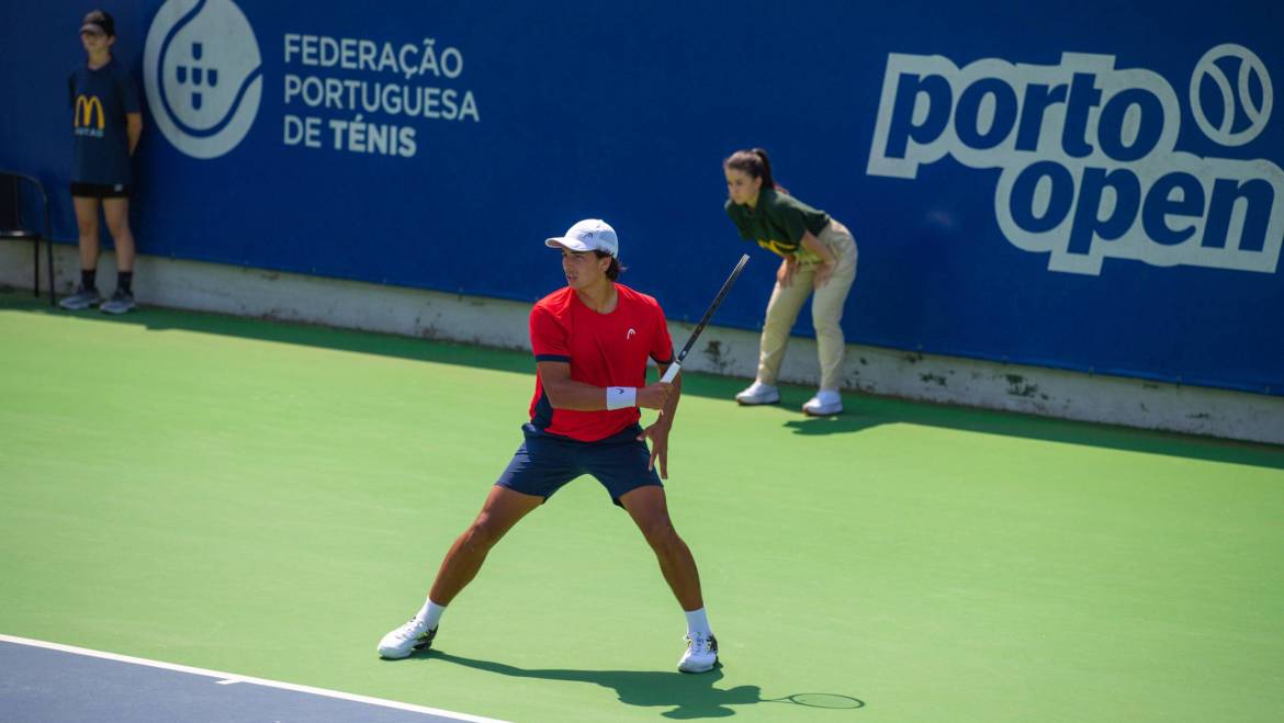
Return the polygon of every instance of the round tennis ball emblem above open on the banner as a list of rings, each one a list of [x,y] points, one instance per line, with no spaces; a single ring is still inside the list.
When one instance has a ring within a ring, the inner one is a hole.
[[[1244,145],[1271,118],[1271,76],[1261,58],[1243,45],[1228,42],[1204,53],[1195,64],[1190,76],[1190,113],[1211,140],[1225,146]],[[1242,117],[1248,119],[1247,127],[1239,122]]]

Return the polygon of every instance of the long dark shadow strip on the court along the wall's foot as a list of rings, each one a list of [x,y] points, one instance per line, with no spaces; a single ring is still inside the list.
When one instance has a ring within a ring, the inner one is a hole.
[[[0,309],[36,315],[73,316],[82,321],[101,324],[130,324],[144,326],[153,331],[181,330],[280,344],[303,344],[334,351],[381,354],[431,363],[464,365],[474,369],[514,374],[530,375],[535,370],[534,360],[525,351],[483,348],[452,342],[333,329],[270,318],[245,318],[166,308],[140,308],[123,316],[108,316],[96,311],[67,312],[50,308],[46,302],[32,299],[30,295],[5,292],[0,292]],[[743,385],[743,379],[692,372],[683,381],[683,394],[725,399],[728,405],[734,405],[732,398]],[[1269,444],[1147,431],[1095,422],[1057,420],[1018,412],[998,412],[926,402],[909,402],[905,399],[856,393],[844,394],[844,405],[846,406],[844,414],[829,417],[808,417],[799,410],[802,402],[811,396],[811,392],[813,389],[810,388],[797,385],[783,385],[781,388],[781,405],[779,407],[773,406],[770,408],[776,412],[787,410],[791,414],[796,414],[795,419],[790,419],[781,425],[783,435],[859,434],[865,429],[883,424],[915,424],[1064,444],[1084,444],[1129,452],[1284,469],[1284,448]],[[759,412],[768,412],[768,410],[728,410],[728,414],[752,415]],[[763,419],[770,420],[764,421],[764,424],[773,426],[778,424],[776,415],[768,416],[768,414],[764,414]]]

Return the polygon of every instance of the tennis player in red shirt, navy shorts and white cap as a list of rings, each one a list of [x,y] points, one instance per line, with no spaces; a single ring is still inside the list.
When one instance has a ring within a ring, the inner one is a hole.
[[[664,311],[654,298],[616,281],[619,240],[606,222],[580,221],[544,243],[561,249],[566,286],[530,312],[538,375],[530,421],[523,425],[525,440],[482,512],[446,553],[422,609],[379,641],[379,654],[399,659],[428,649],[446,606],[505,533],[564,484],[588,474],[633,518],[686,611],[687,649],[678,670],[711,670],[718,641],[705,614],[700,574],[673,528],[660,482],[669,476],[669,430],[682,380],[646,384],[648,357],[661,374],[673,362]],[[638,424],[639,407],[660,411],[646,429]]]

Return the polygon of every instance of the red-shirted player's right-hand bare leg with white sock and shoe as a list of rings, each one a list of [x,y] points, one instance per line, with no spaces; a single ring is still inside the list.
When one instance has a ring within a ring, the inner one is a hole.
[[[673,527],[664,488],[638,487],[621,494],[619,502],[628,510],[647,544],[655,551],[660,571],[687,616],[687,650],[678,661],[678,670],[683,673],[713,670],[718,663],[718,638],[714,637],[705,613],[700,570],[696,568],[691,548]]]

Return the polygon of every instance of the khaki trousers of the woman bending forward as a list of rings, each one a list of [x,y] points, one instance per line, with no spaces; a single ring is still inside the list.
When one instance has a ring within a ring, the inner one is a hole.
[[[815,297],[811,299],[811,324],[815,326],[817,351],[820,357],[820,388],[837,390],[842,388],[842,356],[846,351],[840,322],[847,292],[856,280],[856,241],[846,226],[833,220],[817,238],[829,248],[829,253],[838,262],[833,276],[826,285],[814,289]],[[785,361],[785,347],[790,342],[790,330],[797,321],[802,303],[813,293],[817,266],[815,262],[801,262],[794,271],[794,280],[788,286],[781,286],[777,281],[776,289],[772,290],[772,301],[767,302],[767,320],[763,322],[763,342],[758,357],[758,380],[764,384],[776,384],[781,362]]]

